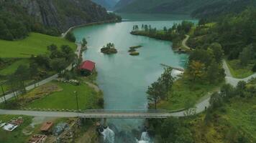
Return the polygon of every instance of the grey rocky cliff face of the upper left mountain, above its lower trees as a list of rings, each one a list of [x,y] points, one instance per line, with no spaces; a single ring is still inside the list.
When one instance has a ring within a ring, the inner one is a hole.
[[[70,26],[113,20],[106,9],[91,0],[0,0],[22,6],[32,19],[46,27],[65,31]]]

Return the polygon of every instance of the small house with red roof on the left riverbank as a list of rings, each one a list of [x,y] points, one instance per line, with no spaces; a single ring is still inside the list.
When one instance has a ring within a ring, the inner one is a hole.
[[[79,67],[82,75],[88,76],[95,70],[95,63],[93,61],[83,61],[83,64]]]

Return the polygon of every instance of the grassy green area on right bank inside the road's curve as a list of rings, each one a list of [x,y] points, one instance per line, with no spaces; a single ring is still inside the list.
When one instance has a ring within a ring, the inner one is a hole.
[[[157,108],[168,110],[183,109],[186,106],[186,100],[190,99],[193,102],[198,102],[209,92],[214,92],[217,89],[219,89],[219,84],[199,84],[188,82],[186,79],[178,79],[173,84],[173,92],[169,92],[168,101],[161,101],[157,104]]]

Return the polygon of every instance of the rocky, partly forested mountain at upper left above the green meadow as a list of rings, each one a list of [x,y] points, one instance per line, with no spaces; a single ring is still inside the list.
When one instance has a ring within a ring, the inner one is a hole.
[[[58,35],[70,26],[115,20],[91,0],[0,0],[1,39],[20,39],[29,31]]]

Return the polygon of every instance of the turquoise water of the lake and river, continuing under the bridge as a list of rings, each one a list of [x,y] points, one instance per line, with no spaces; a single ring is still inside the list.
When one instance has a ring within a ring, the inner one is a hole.
[[[81,41],[83,37],[88,41],[83,59],[96,62],[96,82],[104,92],[104,109],[146,110],[147,87],[163,73],[163,66],[160,64],[186,66],[188,56],[175,54],[170,41],[129,34],[134,25],[150,24],[163,29],[164,26],[170,27],[188,19],[188,16],[165,16],[154,18],[154,15],[147,14],[124,14],[122,17],[125,21],[121,23],[84,26],[73,30],[77,41]],[[117,54],[101,54],[101,47],[109,42],[115,44]],[[140,56],[130,56],[129,47],[137,45],[142,45],[138,49]],[[108,123],[116,134],[116,143],[135,142],[134,132],[141,134],[144,127],[143,119],[108,119]]]

